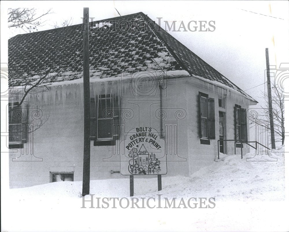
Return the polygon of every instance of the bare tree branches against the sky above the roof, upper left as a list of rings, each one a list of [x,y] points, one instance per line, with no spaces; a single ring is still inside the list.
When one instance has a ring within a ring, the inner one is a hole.
[[[21,28],[25,32],[33,32],[45,23],[42,17],[51,13],[51,9],[38,14],[35,8],[9,8],[8,28]]]

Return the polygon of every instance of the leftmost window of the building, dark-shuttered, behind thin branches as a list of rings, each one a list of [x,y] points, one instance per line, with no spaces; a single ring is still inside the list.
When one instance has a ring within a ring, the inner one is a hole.
[[[18,102],[8,104],[9,112],[9,148],[22,148],[27,140],[27,126],[22,120],[23,114]]]

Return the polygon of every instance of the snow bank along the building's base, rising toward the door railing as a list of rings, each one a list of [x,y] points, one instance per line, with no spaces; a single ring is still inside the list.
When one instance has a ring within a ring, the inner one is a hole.
[[[190,177],[163,176],[162,191],[157,191],[157,178],[135,178],[135,196],[163,194],[168,198],[215,197],[217,200],[284,200],[284,147],[268,155],[254,153],[216,156],[216,162],[203,167]],[[276,181],[278,180],[278,181]],[[79,198],[82,182],[54,182],[22,189],[11,189],[13,198],[46,196]],[[90,193],[100,197],[128,197],[129,179],[91,180]]]

